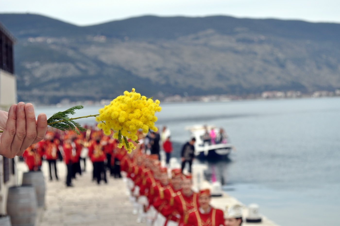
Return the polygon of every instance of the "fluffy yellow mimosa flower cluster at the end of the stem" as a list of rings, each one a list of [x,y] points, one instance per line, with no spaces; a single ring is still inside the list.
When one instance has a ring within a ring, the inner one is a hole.
[[[96,120],[98,128],[102,129],[105,135],[110,135],[113,131],[113,138],[119,140],[120,143],[118,147],[121,148],[124,145],[130,153],[136,147],[128,139],[138,142],[137,131],[139,129],[143,133],[147,133],[149,129],[157,131],[155,113],[161,110],[159,100],[153,101],[151,98],[141,96],[133,88],[132,92],[125,91],[124,95],[99,109]]]

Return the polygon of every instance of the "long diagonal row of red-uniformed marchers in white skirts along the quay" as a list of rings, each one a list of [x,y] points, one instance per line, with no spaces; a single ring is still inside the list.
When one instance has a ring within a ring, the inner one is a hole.
[[[146,222],[148,226],[242,224],[242,206],[232,205],[224,212],[212,207],[208,189],[194,192],[191,174],[183,174],[180,168],[162,167],[157,155],[146,155],[137,149],[122,158],[121,170],[127,178],[138,223]]]

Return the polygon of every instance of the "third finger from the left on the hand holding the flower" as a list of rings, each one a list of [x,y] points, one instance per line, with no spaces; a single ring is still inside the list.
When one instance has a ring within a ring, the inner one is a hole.
[[[21,148],[17,153],[17,156],[21,156],[26,148],[28,148],[37,137],[37,126],[35,122],[33,104],[27,103],[24,109],[26,117],[26,136],[22,141]]]

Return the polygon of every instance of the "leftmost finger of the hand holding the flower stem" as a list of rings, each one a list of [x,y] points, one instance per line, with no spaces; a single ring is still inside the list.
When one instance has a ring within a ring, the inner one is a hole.
[[[16,132],[17,105],[13,104],[8,111],[8,119],[5,130],[1,135],[0,155],[6,158],[14,158],[11,153],[11,145]]]

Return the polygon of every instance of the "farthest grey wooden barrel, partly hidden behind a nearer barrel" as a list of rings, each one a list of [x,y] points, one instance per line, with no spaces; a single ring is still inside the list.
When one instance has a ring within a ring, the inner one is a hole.
[[[30,171],[23,173],[22,185],[33,185],[37,196],[38,207],[45,206],[45,179],[43,172]]]

